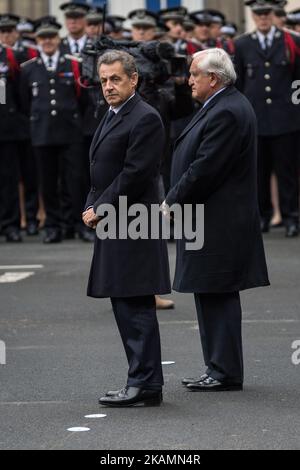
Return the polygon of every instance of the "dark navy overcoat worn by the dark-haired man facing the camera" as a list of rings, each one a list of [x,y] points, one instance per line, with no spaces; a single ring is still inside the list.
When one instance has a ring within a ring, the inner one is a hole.
[[[118,207],[159,203],[159,166],[164,129],[157,111],[135,95],[101,133],[102,120],[91,151],[92,188],[86,208],[102,204]],[[167,294],[171,290],[168,254],[162,240],[100,240],[96,238],[88,295],[135,297]]]

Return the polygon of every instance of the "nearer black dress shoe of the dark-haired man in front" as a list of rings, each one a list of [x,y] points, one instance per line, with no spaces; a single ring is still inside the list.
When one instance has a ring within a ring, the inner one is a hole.
[[[102,397],[100,405],[114,408],[131,406],[160,406],[163,400],[162,392],[145,390],[137,387],[125,387],[118,395]]]

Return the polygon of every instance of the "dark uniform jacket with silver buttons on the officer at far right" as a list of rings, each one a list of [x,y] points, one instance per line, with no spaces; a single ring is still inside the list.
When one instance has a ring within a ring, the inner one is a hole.
[[[299,38],[291,33],[300,46]],[[276,136],[300,130],[300,109],[292,102],[292,83],[300,77],[300,56],[289,57],[284,32],[276,30],[272,47],[265,52],[256,33],[235,41],[237,88],[252,104],[260,136]]]

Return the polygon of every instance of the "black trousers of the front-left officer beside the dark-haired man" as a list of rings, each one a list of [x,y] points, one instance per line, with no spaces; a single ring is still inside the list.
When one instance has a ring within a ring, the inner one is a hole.
[[[45,228],[83,227],[82,146],[35,147],[46,211]]]

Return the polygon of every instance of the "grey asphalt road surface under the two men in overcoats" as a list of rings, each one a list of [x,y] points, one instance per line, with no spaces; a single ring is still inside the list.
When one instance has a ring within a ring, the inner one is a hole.
[[[159,313],[163,361],[175,362],[164,404],[118,410],[98,405],[127,365],[109,301],[86,297],[92,246],[1,239],[0,449],[300,449],[300,240],[277,229],[265,242],[272,287],[242,295],[244,392],[182,387],[203,359],[193,297],[174,294],[176,310]],[[170,260],[173,271],[174,245]]]

